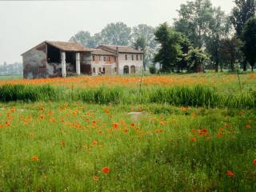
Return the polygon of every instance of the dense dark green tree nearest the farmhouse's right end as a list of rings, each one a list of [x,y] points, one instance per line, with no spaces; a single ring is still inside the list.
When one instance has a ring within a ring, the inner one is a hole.
[[[180,46],[180,42],[182,42],[181,34],[173,30],[165,22],[155,31],[155,37],[161,47],[154,57],[154,62],[159,62],[161,70],[164,72],[174,71],[174,66],[182,55]]]

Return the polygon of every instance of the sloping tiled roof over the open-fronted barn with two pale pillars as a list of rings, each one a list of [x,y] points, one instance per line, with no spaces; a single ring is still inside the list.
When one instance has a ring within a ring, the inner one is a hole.
[[[46,41],[47,44],[50,44],[51,46],[55,46],[56,48],[60,50],[66,50],[66,51],[90,51],[90,49],[87,49],[86,47],[82,46],[78,42],[50,42]]]

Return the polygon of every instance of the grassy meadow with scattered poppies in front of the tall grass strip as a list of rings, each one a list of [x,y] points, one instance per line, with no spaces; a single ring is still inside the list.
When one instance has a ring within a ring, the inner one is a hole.
[[[0,191],[255,191],[255,112],[2,105]]]

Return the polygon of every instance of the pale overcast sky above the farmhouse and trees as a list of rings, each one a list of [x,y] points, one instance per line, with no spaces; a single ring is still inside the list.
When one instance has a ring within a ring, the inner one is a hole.
[[[110,22],[127,26],[172,23],[186,0],[0,0],[0,65],[22,62],[21,54],[45,40],[68,41],[79,30],[100,32]],[[230,13],[233,0],[212,0]]]

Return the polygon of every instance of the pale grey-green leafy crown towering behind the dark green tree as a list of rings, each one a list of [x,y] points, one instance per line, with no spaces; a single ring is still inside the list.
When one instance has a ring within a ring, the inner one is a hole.
[[[174,21],[175,30],[185,34],[193,46],[202,48],[213,13],[210,0],[186,2],[178,10],[178,19]]]

